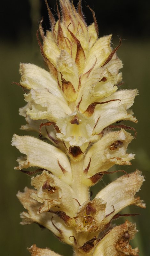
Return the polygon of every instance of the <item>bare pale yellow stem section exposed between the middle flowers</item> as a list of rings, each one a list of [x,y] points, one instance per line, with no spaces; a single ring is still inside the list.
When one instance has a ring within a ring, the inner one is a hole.
[[[80,204],[89,200],[89,187],[82,183],[82,173],[83,173],[83,160],[73,162],[71,161],[73,184],[72,189],[76,195],[76,199]]]

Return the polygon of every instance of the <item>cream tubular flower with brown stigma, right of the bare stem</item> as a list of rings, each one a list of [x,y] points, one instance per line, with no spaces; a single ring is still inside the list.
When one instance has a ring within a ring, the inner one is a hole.
[[[96,142],[85,155],[83,170],[87,168],[91,158],[90,167],[87,174],[85,174],[85,180],[88,180],[98,172],[107,171],[114,164],[130,164],[130,160],[134,158],[134,155],[126,154],[126,149],[132,139],[133,136],[130,133],[121,130],[119,132],[110,132]],[[120,144],[113,148],[113,143],[118,140]]]

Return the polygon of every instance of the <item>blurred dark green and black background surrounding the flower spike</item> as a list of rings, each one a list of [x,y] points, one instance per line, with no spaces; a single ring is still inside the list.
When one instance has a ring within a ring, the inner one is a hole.
[[[50,6],[56,9],[56,2],[49,1]],[[75,1],[75,4],[77,1]],[[55,5],[54,5],[55,4]],[[131,218],[137,223],[140,230],[132,242],[133,246],[139,246],[140,256],[150,255],[150,204],[149,204],[149,182],[150,182],[150,33],[149,33],[149,2],[148,1],[83,1],[83,5],[90,5],[96,12],[99,22],[99,35],[113,34],[114,46],[118,44],[118,36],[122,36],[122,46],[118,56],[123,61],[124,67],[122,89],[138,88],[139,96],[135,100],[133,111],[139,120],[138,124],[131,124],[137,132],[137,139],[132,141],[128,152],[135,153],[136,158],[132,160],[132,166],[125,166],[127,172],[136,168],[141,170],[146,177],[139,195],[147,204],[146,210],[130,206],[125,209],[126,213],[140,213],[141,215]],[[92,16],[88,8],[83,8],[86,13],[87,22],[92,22]],[[23,91],[12,81],[19,82],[18,72],[20,62],[30,62],[44,67],[40,50],[36,42],[36,30],[42,16],[44,26],[49,28],[48,16],[44,1],[7,1],[1,6],[1,233],[0,251],[6,256],[28,256],[27,247],[36,243],[37,246],[46,246],[69,256],[72,250],[69,246],[61,244],[50,231],[42,230],[36,224],[21,226],[19,213],[23,207],[15,196],[18,190],[25,186],[30,187],[30,177],[13,170],[16,159],[20,152],[11,147],[13,133],[23,135],[25,132],[19,130],[25,124],[23,117],[18,115],[19,107],[24,106]],[[114,47],[113,46],[113,47]],[[119,167],[115,167],[118,168]],[[113,168],[113,170],[115,169]],[[119,174],[121,176],[122,174]],[[91,190],[93,196],[97,191],[117,177],[111,174]],[[116,223],[122,223],[121,218]]]

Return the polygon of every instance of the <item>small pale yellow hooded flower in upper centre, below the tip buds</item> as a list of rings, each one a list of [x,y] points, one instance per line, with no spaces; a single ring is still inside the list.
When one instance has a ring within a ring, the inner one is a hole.
[[[57,69],[62,74],[62,77],[69,81],[77,91],[79,86],[78,67],[70,54],[64,50],[61,51],[59,56]]]

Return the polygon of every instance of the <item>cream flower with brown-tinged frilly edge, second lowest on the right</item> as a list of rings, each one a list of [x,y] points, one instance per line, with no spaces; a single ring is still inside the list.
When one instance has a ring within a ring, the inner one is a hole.
[[[145,204],[142,203],[140,197],[136,196],[136,193],[140,190],[144,181],[144,177],[141,175],[140,171],[135,171],[127,175],[114,180],[103,188],[97,195],[96,198],[102,198],[107,202],[106,215],[113,211],[107,218],[106,222],[113,218],[113,216],[120,212],[123,208],[130,204],[135,204],[140,207],[145,208]]]

